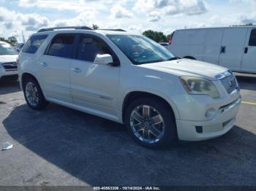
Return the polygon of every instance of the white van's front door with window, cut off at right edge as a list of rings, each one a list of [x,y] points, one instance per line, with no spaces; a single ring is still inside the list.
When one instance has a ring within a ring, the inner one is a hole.
[[[256,73],[256,28],[249,28],[241,71]]]

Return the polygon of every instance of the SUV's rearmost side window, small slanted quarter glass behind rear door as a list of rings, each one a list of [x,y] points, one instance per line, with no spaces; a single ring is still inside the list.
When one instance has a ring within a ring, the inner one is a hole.
[[[26,42],[25,46],[22,49],[22,52],[34,54],[37,52],[42,42],[47,38],[48,35],[34,35],[31,36]]]

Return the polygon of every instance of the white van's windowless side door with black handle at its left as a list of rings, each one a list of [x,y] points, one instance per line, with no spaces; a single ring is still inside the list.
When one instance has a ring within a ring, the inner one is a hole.
[[[241,70],[248,28],[225,28],[220,47],[219,65],[233,71]]]

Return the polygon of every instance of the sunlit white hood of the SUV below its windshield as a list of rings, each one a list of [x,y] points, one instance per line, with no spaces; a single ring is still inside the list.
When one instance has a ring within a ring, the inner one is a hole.
[[[157,71],[164,71],[177,76],[186,75],[194,77],[204,77],[210,80],[216,80],[217,74],[221,74],[227,71],[227,69],[222,66],[217,66],[202,61],[193,61],[185,58],[176,61],[147,63],[140,66],[148,69],[154,69]]]

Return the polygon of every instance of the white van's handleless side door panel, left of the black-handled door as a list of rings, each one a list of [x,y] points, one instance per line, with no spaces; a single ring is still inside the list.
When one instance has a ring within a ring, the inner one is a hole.
[[[219,48],[222,44],[224,28],[206,29],[206,40],[203,50],[203,61],[219,64]]]

